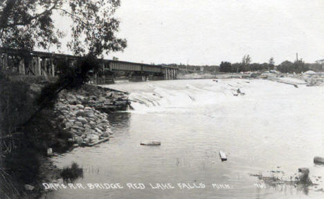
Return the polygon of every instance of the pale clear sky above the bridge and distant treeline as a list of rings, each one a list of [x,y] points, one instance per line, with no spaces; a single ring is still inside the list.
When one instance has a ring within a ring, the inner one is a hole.
[[[309,63],[324,59],[323,0],[121,0],[116,17],[127,48],[107,59],[191,65],[239,62],[244,55],[276,64],[294,61],[296,53]]]

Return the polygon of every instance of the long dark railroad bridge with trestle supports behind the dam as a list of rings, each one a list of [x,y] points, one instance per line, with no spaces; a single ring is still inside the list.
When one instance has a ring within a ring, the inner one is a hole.
[[[61,73],[57,66],[59,60],[80,59],[78,56],[57,53],[45,53],[40,51],[17,50],[12,48],[0,48],[0,69],[12,70],[21,75],[42,75],[55,77]],[[96,84],[114,83],[116,73],[123,71],[129,77],[129,81],[168,80],[177,79],[178,68],[153,64],[141,64],[129,61],[100,59],[102,68],[100,72],[93,74],[93,82]]]

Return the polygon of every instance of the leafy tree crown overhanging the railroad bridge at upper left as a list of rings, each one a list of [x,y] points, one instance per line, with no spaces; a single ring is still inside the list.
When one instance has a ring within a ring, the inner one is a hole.
[[[60,47],[64,33],[53,20],[53,14],[58,13],[72,21],[67,46],[74,55],[123,50],[126,40],[115,35],[119,21],[113,15],[118,6],[119,0],[2,0],[0,46],[27,50]]]

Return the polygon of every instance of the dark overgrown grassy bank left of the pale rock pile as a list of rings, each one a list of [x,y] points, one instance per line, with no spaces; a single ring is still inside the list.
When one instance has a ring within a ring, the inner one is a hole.
[[[39,108],[35,99],[42,86],[51,81],[55,79],[0,71],[0,198],[30,198],[30,194],[35,198],[45,174],[46,149],[69,149],[71,133],[53,125],[57,114],[51,108],[44,108],[26,123]],[[35,189],[28,190],[25,184]]]

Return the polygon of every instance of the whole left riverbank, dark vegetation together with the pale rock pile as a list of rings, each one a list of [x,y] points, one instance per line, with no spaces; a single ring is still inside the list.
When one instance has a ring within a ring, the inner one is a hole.
[[[43,182],[60,178],[61,169],[50,157],[109,140],[112,132],[108,114],[129,106],[127,93],[84,84],[78,89],[61,91],[54,108],[44,108],[28,125],[21,126],[37,110],[35,100],[42,88],[55,79],[15,73],[0,75],[0,198],[41,196]]]

